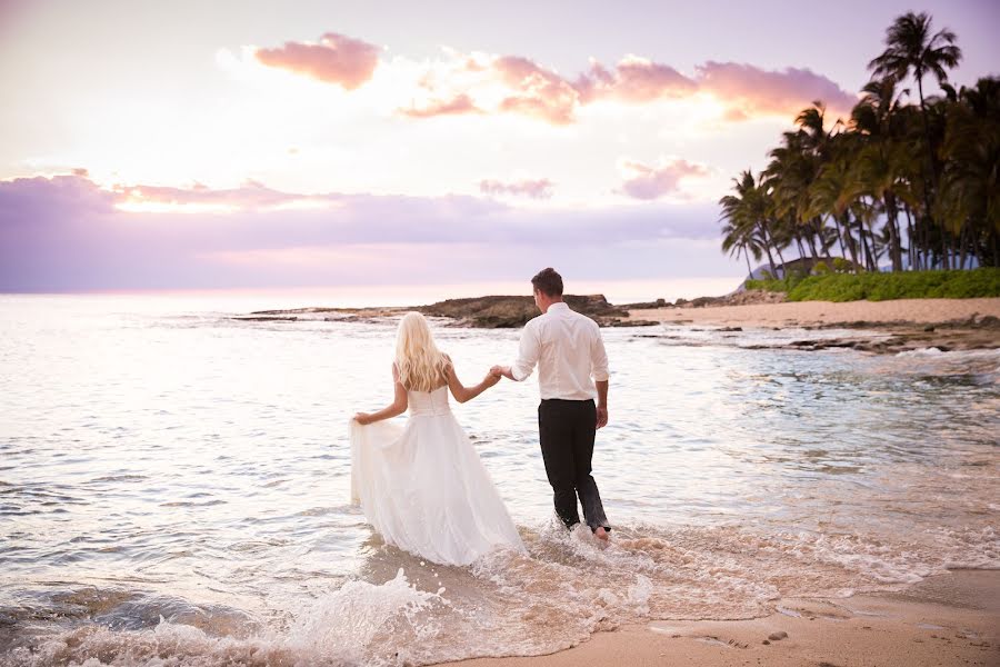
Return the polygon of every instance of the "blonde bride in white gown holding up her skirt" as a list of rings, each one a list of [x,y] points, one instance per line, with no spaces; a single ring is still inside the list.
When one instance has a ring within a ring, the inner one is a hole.
[[[427,320],[399,323],[396,397],[351,420],[351,499],[390,545],[443,565],[468,565],[498,547],[523,550],[518,530],[472,444],[448,406],[500,381],[464,387]],[[386,421],[410,409],[406,426]]]

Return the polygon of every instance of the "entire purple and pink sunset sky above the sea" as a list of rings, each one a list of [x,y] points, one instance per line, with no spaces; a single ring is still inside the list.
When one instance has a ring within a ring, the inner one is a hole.
[[[736,287],[730,179],[910,9],[998,73],[998,7],[0,0],[0,291]]]

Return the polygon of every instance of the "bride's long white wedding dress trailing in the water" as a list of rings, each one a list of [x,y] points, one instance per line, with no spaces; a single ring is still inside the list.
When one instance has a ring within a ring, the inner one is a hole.
[[[406,426],[351,420],[351,500],[390,545],[443,565],[469,565],[521,538],[448,388],[407,392]]]

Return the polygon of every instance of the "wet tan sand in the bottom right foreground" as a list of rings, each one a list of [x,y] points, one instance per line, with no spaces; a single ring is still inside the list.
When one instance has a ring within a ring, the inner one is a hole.
[[[896,593],[782,598],[747,620],[654,620],[591,635],[546,656],[461,667],[774,665],[931,667],[1000,664],[1000,570],[952,570]],[[782,636],[784,635],[784,636]]]

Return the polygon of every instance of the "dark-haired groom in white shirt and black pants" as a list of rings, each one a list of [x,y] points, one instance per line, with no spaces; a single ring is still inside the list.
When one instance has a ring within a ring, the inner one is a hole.
[[[607,540],[611,527],[590,475],[597,429],[608,424],[608,356],[601,331],[562,301],[562,277],[554,269],[543,269],[531,285],[542,313],[524,326],[513,366],[494,366],[492,372],[520,382],[538,366],[538,435],[556,514],[568,528],[579,524],[579,495],[587,525]]]

